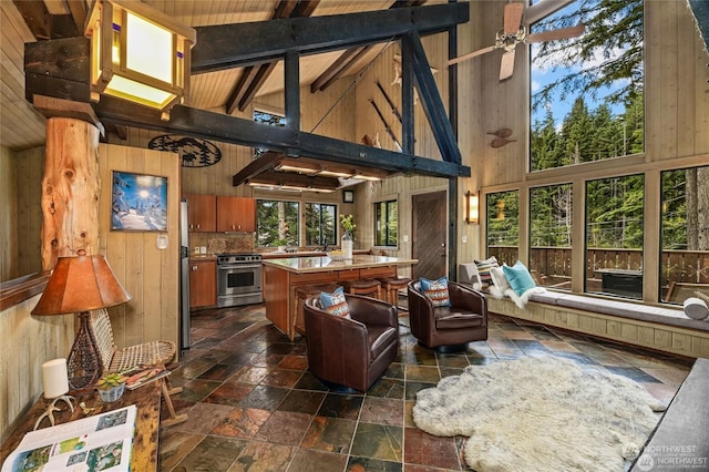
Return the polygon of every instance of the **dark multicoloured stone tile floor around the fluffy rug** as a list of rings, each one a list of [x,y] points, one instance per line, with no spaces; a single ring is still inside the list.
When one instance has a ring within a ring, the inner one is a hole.
[[[464,438],[436,438],[411,417],[415,393],[466,366],[558,356],[640,382],[669,402],[691,359],[491,316],[487,341],[439,355],[417,345],[400,318],[400,349],[362,394],[329,391],[307,370],[304,338],[288,340],[264,305],[193,314],[193,347],[173,371],[173,397],[188,420],[162,428],[161,471],[469,470]],[[166,412],[163,411],[163,414]]]

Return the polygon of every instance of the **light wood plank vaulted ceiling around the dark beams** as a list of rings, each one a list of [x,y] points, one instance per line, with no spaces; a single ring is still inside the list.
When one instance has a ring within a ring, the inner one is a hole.
[[[2,12],[2,120],[0,145],[23,150],[44,141],[44,119],[24,100],[24,43],[83,35],[91,0],[13,0]],[[378,11],[445,0],[146,0],[176,21],[192,27]],[[338,76],[356,74],[381,45],[309,55],[300,61],[300,84],[314,93]],[[284,89],[284,61],[193,75],[191,105],[234,113],[256,98]]]

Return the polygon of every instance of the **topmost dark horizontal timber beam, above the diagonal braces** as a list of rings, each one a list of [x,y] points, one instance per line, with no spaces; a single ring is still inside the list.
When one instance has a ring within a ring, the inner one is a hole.
[[[197,27],[197,43],[192,50],[192,73],[270,62],[294,50],[307,55],[374,44],[412,30],[421,35],[433,34],[448,31],[469,19],[469,4],[461,2]]]

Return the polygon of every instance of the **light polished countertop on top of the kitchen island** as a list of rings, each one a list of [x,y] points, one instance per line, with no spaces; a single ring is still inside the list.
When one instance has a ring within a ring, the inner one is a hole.
[[[286,255],[284,255],[286,256]],[[277,267],[295,274],[308,274],[329,270],[358,269],[378,266],[417,264],[418,259],[401,257],[354,255],[350,260],[332,260],[327,256],[314,257],[281,257],[278,259],[264,259],[265,266]]]

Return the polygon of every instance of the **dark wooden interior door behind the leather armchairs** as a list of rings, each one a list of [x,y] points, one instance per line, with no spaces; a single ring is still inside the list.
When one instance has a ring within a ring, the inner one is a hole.
[[[412,203],[412,256],[414,278],[436,279],[448,275],[445,192],[414,195]]]

